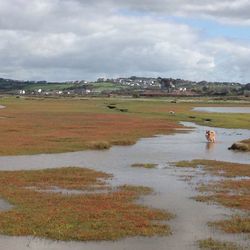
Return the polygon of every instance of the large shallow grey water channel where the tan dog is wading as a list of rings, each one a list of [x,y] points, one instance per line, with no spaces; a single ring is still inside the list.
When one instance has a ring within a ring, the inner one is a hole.
[[[205,141],[207,127],[193,126],[189,133],[145,138],[133,146],[114,146],[106,151],[83,151],[62,154],[0,157],[1,170],[40,169],[63,166],[85,166],[114,174],[113,185],[134,184],[154,188],[156,194],[142,197],[139,202],[176,214],[170,224],[173,235],[168,237],[135,237],[115,242],[55,242],[32,237],[0,236],[0,249],[197,249],[194,242],[207,237],[247,243],[244,236],[222,234],[207,227],[211,220],[230,215],[231,210],[195,202],[196,193],[181,181],[185,170],[172,167],[171,162],[191,159],[213,159],[250,163],[250,154],[227,148],[235,141],[250,138],[249,130],[213,128],[215,144]],[[156,169],[130,167],[133,163],[155,163]],[[187,173],[188,174],[188,173]]]

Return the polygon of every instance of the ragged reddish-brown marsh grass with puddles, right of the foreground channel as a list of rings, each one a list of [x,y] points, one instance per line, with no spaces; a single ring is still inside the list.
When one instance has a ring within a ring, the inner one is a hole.
[[[232,216],[227,220],[209,222],[227,233],[250,233],[250,176],[249,164],[237,164],[210,160],[193,160],[179,162],[178,167],[202,166],[209,174],[222,176],[219,181],[203,183],[197,187],[201,193],[193,197],[196,201],[212,202],[228,208],[240,209],[246,213],[242,216]],[[237,177],[237,178],[235,178]]]

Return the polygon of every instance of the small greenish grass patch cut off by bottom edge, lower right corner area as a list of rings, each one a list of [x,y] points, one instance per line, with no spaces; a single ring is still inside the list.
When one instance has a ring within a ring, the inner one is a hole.
[[[199,240],[198,245],[200,249],[204,249],[204,250],[240,250],[242,249],[241,247],[237,246],[235,243],[214,240],[212,238]]]

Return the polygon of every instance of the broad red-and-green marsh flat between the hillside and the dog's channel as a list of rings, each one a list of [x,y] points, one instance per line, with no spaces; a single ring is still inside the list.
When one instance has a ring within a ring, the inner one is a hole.
[[[192,111],[197,106],[218,106],[207,99],[194,102],[178,99],[172,103],[168,98],[2,97],[1,105],[6,106],[0,111],[1,117],[11,119],[1,119],[0,155],[131,145],[142,137],[174,133],[176,128],[183,128],[180,121],[227,128],[249,128],[250,124],[249,114],[209,113],[208,116]]]

